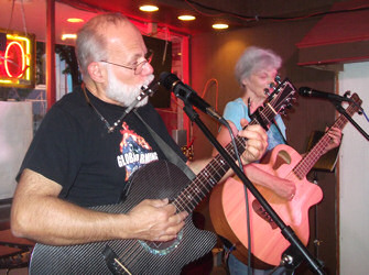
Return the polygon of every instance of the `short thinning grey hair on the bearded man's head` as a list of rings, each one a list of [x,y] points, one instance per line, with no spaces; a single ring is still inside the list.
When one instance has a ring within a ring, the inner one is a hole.
[[[109,57],[104,30],[108,25],[118,25],[126,22],[129,22],[129,20],[120,13],[104,13],[89,20],[78,31],[76,56],[84,75],[87,75],[87,67],[91,62],[100,62]]]

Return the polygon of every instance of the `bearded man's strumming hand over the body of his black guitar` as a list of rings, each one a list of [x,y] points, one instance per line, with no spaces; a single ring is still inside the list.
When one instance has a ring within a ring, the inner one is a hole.
[[[187,216],[185,211],[176,213],[167,199],[145,199],[128,213],[128,227],[134,239],[165,242],[176,238]]]

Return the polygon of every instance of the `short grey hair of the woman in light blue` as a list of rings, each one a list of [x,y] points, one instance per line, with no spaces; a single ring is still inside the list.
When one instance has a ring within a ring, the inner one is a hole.
[[[281,64],[282,58],[273,51],[250,46],[243,52],[236,64],[236,79],[242,86],[242,80],[251,74],[267,67],[279,69]]]

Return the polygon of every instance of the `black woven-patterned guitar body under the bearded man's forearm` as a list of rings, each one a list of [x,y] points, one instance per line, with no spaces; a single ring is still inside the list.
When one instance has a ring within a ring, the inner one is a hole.
[[[143,199],[175,198],[191,183],[180,168],[164,161],[145,165],[130,182],[124,202],[93,209],[127,213]],[[178,238],[170,242],[112,240],[70,246],[37,243],[30,274],[180,274],[184,265],[208,253],[216,240],[214,233],[195,228],[189,215]]]

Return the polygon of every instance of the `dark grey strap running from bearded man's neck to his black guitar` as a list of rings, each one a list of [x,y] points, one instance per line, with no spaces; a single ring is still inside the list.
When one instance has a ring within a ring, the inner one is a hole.
[[[177,153],[171,147],[169,146],[162,138],[159,136],[159,134],[156,134],[156,132],[141,118],[141,116],[137,112],[137,110],[133,110],[133,113],[141,120],[141,122],[143,123],[143,125],[146,127],[146,129],[149,130],[150,134],[152,135],[152,138],[155,140],[155,142],[158,143],[158,145],[162,148],[162,152],[164,153],[164,155],[166,156],[166,158],[173,163],[174,165],[176,165],[177,167],[180,167],[184,174],[186,174],[186,176],[193,180],[196,175],[192,172],[192,169],[188,168],[188,166],[186,165],[186,163],[177,155]]]

